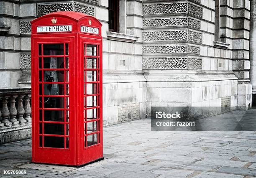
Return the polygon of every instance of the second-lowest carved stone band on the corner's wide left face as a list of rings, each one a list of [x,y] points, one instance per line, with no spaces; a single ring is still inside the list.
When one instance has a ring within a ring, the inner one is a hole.
[[[187,53],[187,45],[143,46],[143,53]]]

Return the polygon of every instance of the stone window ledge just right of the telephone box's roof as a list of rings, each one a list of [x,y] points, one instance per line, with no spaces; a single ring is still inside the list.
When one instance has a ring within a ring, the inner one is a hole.
[[[129,43],[135,43],[139,38],[138,36],[123,34],[123,33],[116,33],[111,31],[107,32],[107,36],[109,40],[123,41],[123,42],[129,42]]]

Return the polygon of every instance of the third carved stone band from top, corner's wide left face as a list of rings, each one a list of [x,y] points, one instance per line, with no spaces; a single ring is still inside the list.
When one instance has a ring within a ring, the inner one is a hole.
[[[184,41],[187,40],[187,31],[147,31],[143,38],[144,41]]]

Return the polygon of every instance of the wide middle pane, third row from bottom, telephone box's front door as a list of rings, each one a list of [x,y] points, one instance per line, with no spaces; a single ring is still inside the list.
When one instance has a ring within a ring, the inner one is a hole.
[[[64,111],[44,110],[44,121],[64,122]]]

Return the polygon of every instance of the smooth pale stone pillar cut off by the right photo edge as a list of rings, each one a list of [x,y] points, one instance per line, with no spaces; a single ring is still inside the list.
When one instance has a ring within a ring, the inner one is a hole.
[[[251,0],[250,11],[250,80],[252,84],[253,106],[256,106],[256,0]]]

